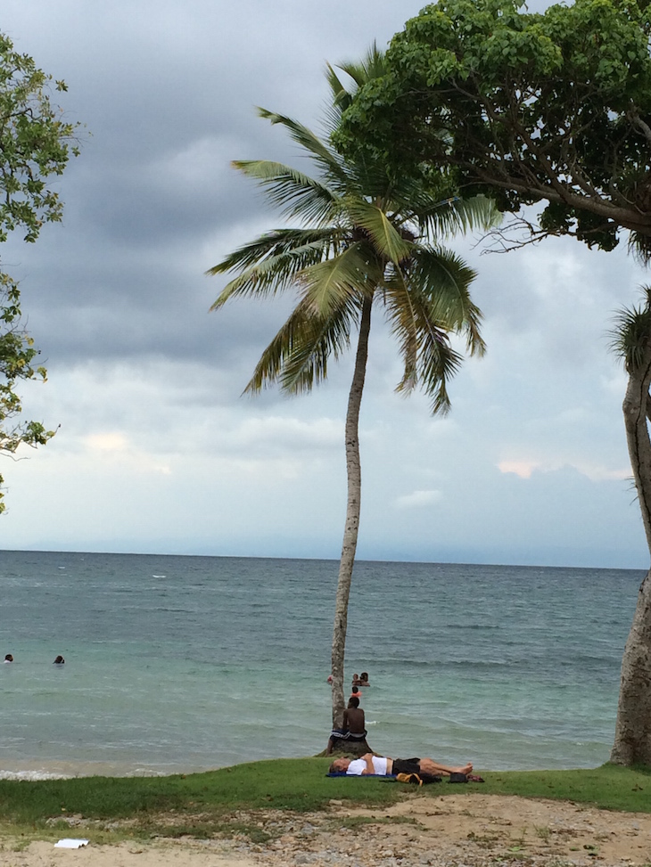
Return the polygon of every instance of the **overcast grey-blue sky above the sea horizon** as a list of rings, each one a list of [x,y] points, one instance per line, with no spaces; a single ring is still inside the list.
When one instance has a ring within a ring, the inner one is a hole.
[[[225,281],[203,272],[279,222],[229,161],[301,159],[254,106],[318,128],[326,61],[385,45],[420,5],[4,0],[0,29],[66,80],[91,135],[57,182],[62,225],[0,249],[49,372],[26,411],[61,425],[2,459],[2,547],[339,556],[351,358],[308,397],[241,397],[287,304],[210,314]],[[625,245],[476,241],[455,249],[479,272],[489,352],[452,382],[448,418],[394,393],[375,316],[358,556],[647,568],[608,352],[647,274]]]

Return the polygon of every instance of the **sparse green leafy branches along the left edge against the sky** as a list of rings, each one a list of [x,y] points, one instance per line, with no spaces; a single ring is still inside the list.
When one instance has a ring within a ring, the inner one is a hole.
[[[54,87],[66,89],[62,81]],[[44,223],[62,218],[62,201],[47,178],[61,175],[70,153],[78,153],[72,143],[77,126],[52,104],[52,88],[53,78],[0,34],[0,241],[21,231],[25,241],[34,242]],[[34,364],[38,350],[21,327],[18,284],[3,272],[0,323],[0,452],[14,454],[21,443],[44,445],[54,431],[21,420],[15,389],[20,380],[45,380],[45,368]],[[3,496],[0,492],[0,512]]]

